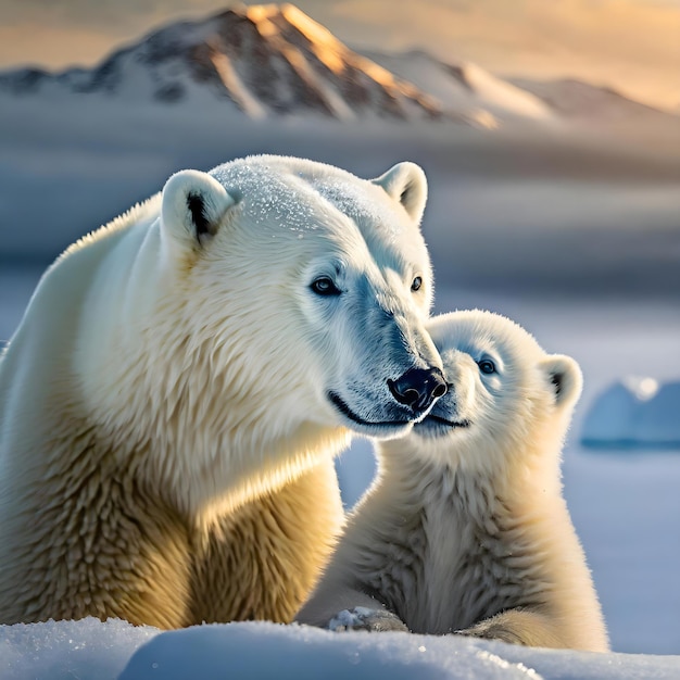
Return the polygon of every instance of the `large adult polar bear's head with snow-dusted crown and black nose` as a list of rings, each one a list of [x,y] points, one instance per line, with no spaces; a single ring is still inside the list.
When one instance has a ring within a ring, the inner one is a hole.
[[[179,313],[184,347],[207,357],[201,389],[225,421],[389,438],[428,413],[446,385],[424,327],[426,194],[412,163],[365,180],[256,156],[167,181],[164,304]]]

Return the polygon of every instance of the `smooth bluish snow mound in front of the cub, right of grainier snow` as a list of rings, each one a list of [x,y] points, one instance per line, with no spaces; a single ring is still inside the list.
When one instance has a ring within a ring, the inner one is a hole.
[[[257,645],[256,647],[254,645]],[[207,660],[210,659],[210,660]],[[501,643],[406,633],[331,633],[272,624],[209,626],[164,633],[141,647],[121,680],[196,675],[222,678],[390,680],[672,678],[680,657],[520,650]],[[154,664],[156,665],[154,667]],[[154,670],[156,672],[149,672]],[[676,675],[677,677],[677,675]]]

